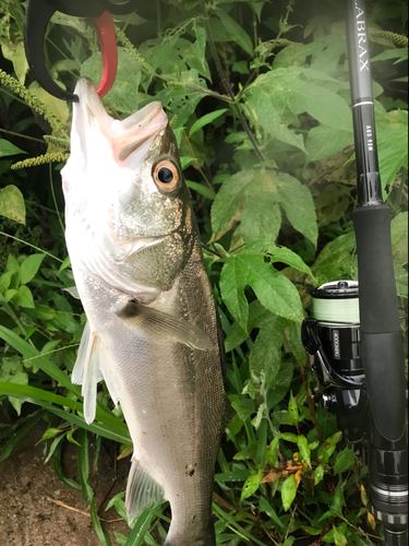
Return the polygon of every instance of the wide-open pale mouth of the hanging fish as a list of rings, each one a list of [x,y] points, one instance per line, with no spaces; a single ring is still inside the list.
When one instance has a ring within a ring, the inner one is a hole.
[[[74,93],[80,102],[73,105],[73,134],[79,135],[82,153],[95,145],[97,133],[108,140],[118,165],[136,168],[142,165],[157,134],[168,124],[161,103],[154,100],[132,116],[111,118],[103,106],[88,78],[81,78]],[[72,143],[75,147],[75,143]]]

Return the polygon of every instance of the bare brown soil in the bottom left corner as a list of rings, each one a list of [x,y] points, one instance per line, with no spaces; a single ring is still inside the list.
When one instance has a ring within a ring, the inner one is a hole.
[[[0,546],[100,546],[91,519],[56,505],[49,499],[87,511],[82,492],[65,486],[55,474],[52,460],[44,464],[44,444],[35,446],[47,426],[38,423],[15,447],[12,454],[0,463]],[[89,449],[89,468],[94,453]],[[95,491],[95,503],[100,518],[118,519],[111,508],[105,512],[107,502],[117,492],[124,490],[130,467],[130,458],[115,464],[113,442],[100,449],[98,471],[91,471],[89,482]],[[75,446],[64,442],[63,468],[77,480]],[[122,520],[103,522],[116,546],[113,532],[129,535],[130,529]]]

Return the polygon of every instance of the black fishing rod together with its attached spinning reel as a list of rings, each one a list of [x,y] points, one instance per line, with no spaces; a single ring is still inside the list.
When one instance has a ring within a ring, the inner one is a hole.
[[[347,43],[357,162],[352,213],[359,282],[313,293],[302,327],[323,404],[350,441],[369,444],[372,510],[387,546],[407,544],[408,442],[405,356],[390,244],[390,209],[382,200],[364,0],[347,1]]]

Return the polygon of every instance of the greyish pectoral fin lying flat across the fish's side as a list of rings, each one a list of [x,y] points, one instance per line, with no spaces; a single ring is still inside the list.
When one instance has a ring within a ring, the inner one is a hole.
[[[200,328],[184,319],[140,305],[135,300],[115,311],[132,329],[144,332],[149,337],[160,341],[177,341],[200,351],[213,348],[209,336]]]

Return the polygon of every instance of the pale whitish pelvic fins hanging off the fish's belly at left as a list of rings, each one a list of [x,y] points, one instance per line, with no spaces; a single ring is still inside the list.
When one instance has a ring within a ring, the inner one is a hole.
[[[110,354],[99,335],[92,331],[89,322],[87,322],[81,337],[79,354],[71,377],[71,381],[74,384],[82,385],[81,394],[84,396],[84,418],[87,424],[93,423],[95,419],[97,384],[101,379],[107,383],[109,394],[117,405],[120,388]]]

